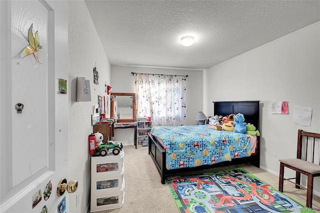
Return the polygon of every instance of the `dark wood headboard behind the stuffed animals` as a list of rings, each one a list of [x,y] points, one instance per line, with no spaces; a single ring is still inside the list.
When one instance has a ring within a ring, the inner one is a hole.
[[[213,115],[229,115],[241,113],[244,116],[244,122],[253,124],[256,129],[259,128],[259,100],[248,101],[212,101]]]

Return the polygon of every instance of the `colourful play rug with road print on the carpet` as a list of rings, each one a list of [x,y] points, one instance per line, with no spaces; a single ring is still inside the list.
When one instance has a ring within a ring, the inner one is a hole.
[[[314,212],[242,168],[166,181],[180,212]]]

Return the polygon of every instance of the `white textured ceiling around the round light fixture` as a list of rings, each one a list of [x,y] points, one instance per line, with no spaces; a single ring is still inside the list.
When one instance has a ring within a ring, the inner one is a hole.
[[[112,65],[205,69],[320,20],[320,0],[85,0]],[[194,44],[180,38],[192,35]]]

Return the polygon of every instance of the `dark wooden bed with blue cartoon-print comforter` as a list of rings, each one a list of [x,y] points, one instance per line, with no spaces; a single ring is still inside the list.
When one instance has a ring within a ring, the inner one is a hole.
[[[245,118],[244,122],[251,123],[259,129],[259,100],[213,102],[214,115],[228,115],[232,113],[242,113]],[[244,133],[236,133],[236,135],[234,135],[235,132],[213,130],[207,128],[207,126],[208,125],[165,126],[160,128],[162,131],[161,136],[159,136],[159,129],[153,127],[153,131],[148,134],[148,153],[160,174],[162,184],[164,184],[165,176],[178,173],[194,172],[202,169],[241,163],[251,163],[259,167],[259,136],[252,137]],[[189,141],[176,140],[177,137],[175,138],[174,135],[172,136],[168,133],[170,131],[172,133],[173,130],[184,132],[185,135],[188,135],[185,137]],[[200,135],[200,137],[194,139],[192,132],[200,132],[196,133]],[[168,138],[165,138],[163,134],[167,134]],[[213,141],[212,135],[214,135]],[[223,137],[228,141],[224,144],[225,146],[223,146],[222,140],[217,139]],[[236,138],[236,141],[231,141],[231,138]],[[251,140],[253,141],[252,138],[256,139],[254,146],[250,142]],[[170,141],[170,139],[172,141]],[[165,140],[167,141],[165,142]],[[218,144],[220,141],[222,143]],[[194,142],[196,143],[194,144]],[[234,143],[238,143],[239,146]],[[213,150],[212,147],[222,150]],[[182,148],[187,148],[184,151],[188,151],[189,153],[180,153],[179,149]]]

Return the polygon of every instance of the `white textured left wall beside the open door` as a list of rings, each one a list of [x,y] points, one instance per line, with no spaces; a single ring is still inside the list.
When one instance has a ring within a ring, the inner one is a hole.
[[[69,209],[71,212],[86,212],[90,200],[90,155],[87,138],[93,130],[91,114],[93,105],[97,104],[97,95],[106,95],[104,82],[110,84],[110,63],[84,1],[69,0],[68,6],[69,177],[67,180],[78,180],[77,191],[68,194]],[[95,63],[99,73],[99,84],[93,83]],[[91,101],[76,102],[76,77],[85,77],[90,80]],[[79,193],[77,207],[76,193]]]

